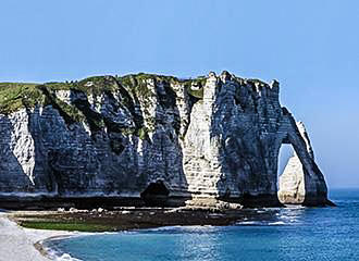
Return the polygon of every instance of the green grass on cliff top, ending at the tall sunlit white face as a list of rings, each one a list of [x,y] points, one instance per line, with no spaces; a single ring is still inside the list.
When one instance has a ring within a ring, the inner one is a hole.
[[[78,90],[86,95],[100,95],[104,91],[114,91],[119,86],[125,87],[136,96],[148,96],[150,90],[147,88],[146,80],[154,79],[156,82],[165,82],[168,84],[184,85],[188,94],[202,98],[202,89],[191,90],[190,86],[193,83],[205,86],[206,77],[201,76],[196,79],[180,79],[174,76],[156,75],[156,74],[129,74],[125,76],[92,76],[79,82],[64,82],[64,83],[46,83],[46,84],[32,84],[32,83],[0,83],[0,113],[10,114],[22,108],[34,108],[35,105],[48,105],[51,102],[61,103],[59,104],[64,111],[67,111],[76,116],[76,120],[82,120],[83,116],[78,115],[76,109],[71,105],[53,99],[49,102],[49,97],[44,94],[44,86],[51,94],[57,90]]]

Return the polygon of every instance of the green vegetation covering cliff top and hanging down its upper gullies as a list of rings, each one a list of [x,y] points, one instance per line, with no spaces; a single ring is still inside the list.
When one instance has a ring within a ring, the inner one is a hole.
[[[125,76],[92,76],[82,80],[50,82],[45,84],[0,83],[0,114],[11,114],[35,107],[55,109],[67,125],[85,123],[91,133],[107,127],[110,132],[136,135],[147,139],[157,121],[151,108],[160,103],[164,110],[176,105],[176,91],[186,91],[194,101],[202,99],[206,77],[180,79],[156,74]],[[162,86],[162,91],[158,86]],[[193,88],[195,87],[195,88]],[[102,113],[101,99],[116,99],[111,110],[129,111],[135,126],[123,126]],[[79,98],[78,98],[79,97]],[[95,102],[95,103],[94,103]],[[99,104],[101,103],[101,104]],[[99,107],[96,108],[96,104]],[[180,132],[180,119],[174,123]],[[114,145],[114,148],[119,146]]]

